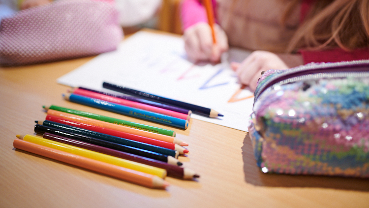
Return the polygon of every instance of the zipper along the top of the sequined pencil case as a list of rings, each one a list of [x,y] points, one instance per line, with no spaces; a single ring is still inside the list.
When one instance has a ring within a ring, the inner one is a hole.
[[[302,81],[317,78],[342,78],[342,77],[368,77],[369,60],[359,60],[350,62],[311,64],[283,70],[275,77],[269,79],[259,86],[254,93],[254,101],[269,87],[279,83],[287,84],[295,81]]]

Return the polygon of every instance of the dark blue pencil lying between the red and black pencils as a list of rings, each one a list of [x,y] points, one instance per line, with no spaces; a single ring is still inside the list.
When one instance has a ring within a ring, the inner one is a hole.
[[[48,121],[48,120],[40,121],[40,123],[38,123],[38,124],[42,124],[42,125],[47,126],[46,124],[48,122],[52,122],[52,121]],[[56,123],[56,122],[53,122],[53,123]],[[56,123],[56,124],[64,125],[64,124],[61,124],[61,123]],[[67,126],[69,128],[68,131],[70,131],[70,132],[73,132],[70,129],[77,128],[77,127],[73,127],[73,126],[70,126],[70,125],[64,125],[64,126]],[[163,147],[160,147],[160,146],[155,146],[155,145],[151,145],[151,144],[147,144],[147,143],[143,143],[143,142],[139,142],[139,141],[134,141],[134,140],[129,140],[129,139],[124,139],[124,138],[120,138],[120,137],[115,137],[115,136],[111,136],[111,135],[107,135],[107,134],[101,134],[101,133],[86,130],[86,129],[81,129],[81,128],[78,128],[78,129],[81,130],[84,133],[83,135],[91,136],[91,134],[93,134],[94,135],[93,137],[97,138],[97,139],[104,139],[104,140],[111,141],[111,142],[114,142],[114,143],[123,144],[125,146],[131,146],[131,147],[144,149],[144,150],[148,150],[148,151],[152,151],[152,152],[156,152],[156,153],[160,153],[160,154],[164,154],[164,155],[170,155],[170,156],[175,157],[175,158],[178,158],[178,155],[179,155],[179,152],[175,151],[173,149],[163,148]],[[77,133],[77,134],[79,134],[79,133]],[[89,134],[89,135],[87,135],[87,134]]]

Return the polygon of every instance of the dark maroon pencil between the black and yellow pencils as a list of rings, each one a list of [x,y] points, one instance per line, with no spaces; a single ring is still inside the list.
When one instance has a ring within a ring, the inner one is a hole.
[[[192,179],[194,177],[199,177],[198,174],[196,174],[194,171],[192,171],[190,169],[187,169],[187,168],[181,168],[181,167],[178,167],[176,165],[170,165],[168,163],[164,163],[164,162],[161,162],[161,161],[158,161],[158,160],[153,160],[153,159],[149,159],[149,158],[140,157],[140,156],[137,156],[137,155],[132,155],[132,154],[129,154],[129,153],[125,153],[125,152],[121,152],[121,151],[118,151],[118,150],[106,148],[106,147],[103,147],[103,146],[90,144],[90,143],[75,140],[75,139],[69,139],[69,138],[66,138],[66,137],[57,136],[57,135],[53,135],[53,134],[49,134],[49,133],[45,133],[43,135],[43,138],[50,139],[50,140],[53,140],[53,141],[59,141],[61,143],[65,143],[65,144],[77,146],[77,147],[80,147],[80,148],[88,149],[88,150],[91,150],[91,151],[100,152],[100,153],[103,153],[103,154],[123,158],[123,159],[126,159],[126,160],[142,163],[142,164],[145,164],[145,165],[154,166],[154,167],[157,167],[157,168],[162,168],[162,169],[165,169],[167,171],[168,176],[174,176],[174,177],[179,177],[179,178],[183,178],[183,179]]]

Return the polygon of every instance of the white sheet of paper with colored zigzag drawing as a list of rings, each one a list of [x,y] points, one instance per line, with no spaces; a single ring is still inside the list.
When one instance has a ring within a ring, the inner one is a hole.
[[[138,32],[123,41],[116,51],[100,54],[60,77],[58,83],[109,92],[102,88],[105,81],[212,108],[224,117],[192,114],[191,118],[247,131],[253,93],[241,89],[228,63],[241,62],[248,55],[247,51],[230,49],[223,54],[221,64],[195,65],[186,59],[182,38]]]

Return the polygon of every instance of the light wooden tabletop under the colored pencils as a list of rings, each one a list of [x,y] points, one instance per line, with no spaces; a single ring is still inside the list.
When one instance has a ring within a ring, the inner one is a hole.
[[[368,179],[261,173],[246,132],[195,119],[183,131],[64,101],[56,79],[92,58],[0,68],[0,207],[369,207]],[[175,130],[189,143],[180,160],[201,177],[166,177],[171,186],[155,190],[13,148],[50,104]]]

